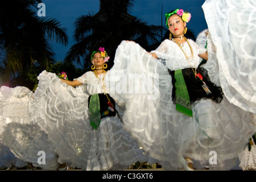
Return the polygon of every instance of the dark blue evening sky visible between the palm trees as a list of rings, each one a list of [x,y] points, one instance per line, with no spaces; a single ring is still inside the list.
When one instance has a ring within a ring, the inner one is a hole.
[[[191,13],[191,20],[187,27],[197,36],[207,28],[202,10],[204,2],[205,0],[136,0],[130,14],[149,25],[161,25],[162,18],[165,25],[165,13],[177,8],[183,9]],[[62,27],[67,28],[69,44],[65,47],[53,43],[55,60],[63,60],[69,48],[75,43],[73,41],[75,19],[88,13],[96,14],[99,11],[99,0],[43,0],[43,3],[46,7],[46,16],[59,20]]]

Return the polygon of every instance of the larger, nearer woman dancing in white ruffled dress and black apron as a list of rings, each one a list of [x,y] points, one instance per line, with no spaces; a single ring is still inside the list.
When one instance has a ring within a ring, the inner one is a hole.
[[[218,64],[210,35],[206,52],[184,36],[189,13],[177,9],[167,13],[166,18],[172,38],[150,53],[134,42],[122,42],[107,79],[117,89],[118,76],[129,82],[130,75],[146,75],[150,79],[144,77],[143,84],[137,84],[140,89],[153,88],[151,92],[110,94],[126,101],[123,121],[149,152],[152,162],[157,161],[166,169],[190,170],[187,164],[192,163],[191,158],[207,162],[211,169],[230,169],[255,133],[255,114],[227,100],[217,86],[221,77],[218,69],[209,70],[209,75],[215,72],[219,76],[210,81],[207,71]],[[201,57],[208,60],[204,65],[207,69],[198,67]],[[164,59],[166,67],[155,58]],[[134,114],[136,111],[139,113]]]

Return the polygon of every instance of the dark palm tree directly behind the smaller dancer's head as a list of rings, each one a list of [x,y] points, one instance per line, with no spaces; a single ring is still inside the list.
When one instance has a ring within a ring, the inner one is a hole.
[[[90,52],[99,47],[105,47],[111,60],[122,40],[134,40],[143,48],[151,50],[150,45],[158,42],[161,27],[148,26],[141,19],[128,14],[133,2],[102,0],[97,14],[89,13],[77,18],[74,23],[74,39],[77,43],[67,52],[65,61],[74,61],[86,68],[90,64]],[[113,65],[111,61],[109,67]]]

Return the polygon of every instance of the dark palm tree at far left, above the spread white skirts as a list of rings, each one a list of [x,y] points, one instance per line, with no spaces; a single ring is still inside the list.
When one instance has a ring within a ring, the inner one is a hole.
[[[4,83],[8,84],[25,68],[49,68],[54,63],[50,40],[67,45],[66,29],[48,17],[37,15],[41,0],[3,1],[0,6],[0,61]]]

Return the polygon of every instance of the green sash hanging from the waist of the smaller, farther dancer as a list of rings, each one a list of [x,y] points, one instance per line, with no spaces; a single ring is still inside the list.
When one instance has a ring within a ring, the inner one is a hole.
[[[93,129],[97,130],[99,123],[101,123],[101,106],[98,94],[94,94],[90,98],[89,114],[90,124],[93,127]]]

